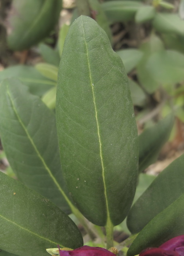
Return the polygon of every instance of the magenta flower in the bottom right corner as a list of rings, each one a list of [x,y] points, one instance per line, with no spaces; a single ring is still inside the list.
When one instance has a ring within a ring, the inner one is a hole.
[[[174,237],[158,248],[147,248],[139,256],[184,256],[184,235]]]

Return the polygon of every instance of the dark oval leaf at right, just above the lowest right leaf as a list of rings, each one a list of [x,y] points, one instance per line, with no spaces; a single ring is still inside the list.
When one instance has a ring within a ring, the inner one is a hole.
[[[162,171],[131,208],[127,225],[138,233],[157,214],[184,193],[184,155]]]

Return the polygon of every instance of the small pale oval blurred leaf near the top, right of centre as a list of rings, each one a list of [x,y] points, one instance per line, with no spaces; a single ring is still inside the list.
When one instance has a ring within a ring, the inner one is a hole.
[[[143,23],[152,20],[156,14],[153,6],[145,5],[140,7],[135,14],[135,22]]]

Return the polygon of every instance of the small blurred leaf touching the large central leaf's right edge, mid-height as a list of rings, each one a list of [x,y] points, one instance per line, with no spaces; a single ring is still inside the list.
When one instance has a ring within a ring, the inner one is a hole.
[[[146,103],[146,94],[141,87],[129,78],[129,86],[131,92],[131,98],[135,106],[144,106]]]

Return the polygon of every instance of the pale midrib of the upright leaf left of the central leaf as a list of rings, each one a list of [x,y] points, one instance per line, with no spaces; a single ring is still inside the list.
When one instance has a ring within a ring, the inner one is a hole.
[[[18,120],[19,120],[19,123],[20,123],[20,125],[22,126],[22,128],[24,129],[24,131],[25,131],[25,133],[26,133],[26,135],[27,135],[27,138],[30,140],[30,143],[32,144],[32,146],[33,146],[35,152],[37,153],[38,158],[41,160],[43,166],[45,167],[45,169],[46,169],[47,172],[49,173],[51,179],[53,180],[53,182],[54,182],[54,184],[56,185],[56,187],[58,188],[58,190],[61,192],[61,194],[62,194],[63,197],[65,198],[66,202],[69,204],[70,208],[73,208],[73,207],[74,207],[73,204],[70,202],[70,200],[69,200],[68,197],[66,196],[65,192],[64,192],[64,191],[62,190],[62,188],[60,187],[60,184],[57,182],[56,178],[55,178],[55,177],[53,176],[53,174],[51,173],[51,170],[50,170],[49,167],[47,166],[45,160],[43,159],[43,157],[42,157],[41,154],[39,153],[39,150],[38,150],[37,146],[35,145],[35,143],[34,143],[34,141],[32,140],[30,134],[28,133],[26,126],[23,124],[23,122],[22,122],[22,120],[21,120],[21,118],[20,118],[20,116],[19,116],[19,114],[18,114],[18,112],[17,112],[17,110],[16,110],[16,108],[15,108],[15,105],[14,105],[13,99],[11,98],[11,95],[10,95],[10,93],[9,93],[9,90],[7,90],[7,94],[9,95],[9,99],[10,99],[10,101],[11,101],[11,103],[12,103],[12,107],[13,107],[13,109],[14,109],[14,112],[15,112],[15,114],[16,114]]]

